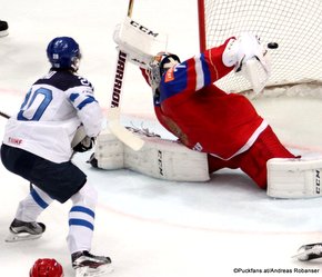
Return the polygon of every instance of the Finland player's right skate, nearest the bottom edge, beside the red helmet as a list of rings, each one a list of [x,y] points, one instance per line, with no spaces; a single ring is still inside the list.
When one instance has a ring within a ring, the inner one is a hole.
[[[94,256],[89,251],[78,251],[71,256],[72,267],[76,269],[77,277],[98,277],[107,276],[113,269],[111,259],[104,256]]]

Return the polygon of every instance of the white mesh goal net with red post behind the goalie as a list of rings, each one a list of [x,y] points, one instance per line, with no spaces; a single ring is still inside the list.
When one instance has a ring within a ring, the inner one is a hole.
[[[254,33],[264,46],[279,44],[270,50],[272,75],[266,88],[280,92],[296,85],[321,93],[321,0],[198,0],[198,4],[201,50],[219,46],[231,36]],[[244,78],[232,75],[217,85],[231,92],[251,89]]]

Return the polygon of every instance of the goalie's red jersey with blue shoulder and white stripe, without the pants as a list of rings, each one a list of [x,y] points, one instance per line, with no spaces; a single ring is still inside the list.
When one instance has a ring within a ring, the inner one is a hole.
[[[155,113],[189,148],[229,159],[249,149],[266,123],[245,97],[225,93],[212,83],[231,71],[221,55],[217,63],[212,60],[217,75],[204,57],[199,58],[203,60],[193,58],[168,70],[154,100]]]

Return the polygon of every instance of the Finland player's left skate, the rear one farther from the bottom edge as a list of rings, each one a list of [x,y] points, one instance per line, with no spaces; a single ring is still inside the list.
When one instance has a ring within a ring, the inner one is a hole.
[[[14,219],[9,230],[10,235],[7,237],[6,243],[16,243],[40,238],[46,230],[46,226],[41,222],[26,222]]]

